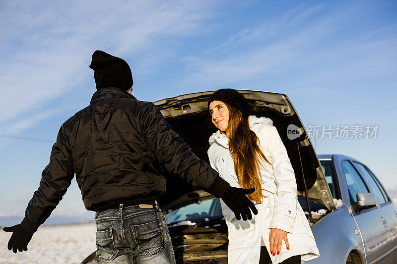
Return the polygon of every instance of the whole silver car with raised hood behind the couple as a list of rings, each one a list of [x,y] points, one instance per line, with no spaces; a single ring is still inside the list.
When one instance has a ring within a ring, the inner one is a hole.
[[[238,91],[252,106],[252,114],[273,120],[287,149],[298,201],[321,255],[309,263],[397,263],[397,207],[368,167],[342,155],[318,157],[287,96]],[[207,108],[211,94],[187,94],[154,103],[194,153],[206,161],[208,138],[215,131]],[[177,175],[167,176],[166,190],[160,203],[177,263],[226,264],[227,227],[219,200]],[[95,253],[83,263],[94,259]]]

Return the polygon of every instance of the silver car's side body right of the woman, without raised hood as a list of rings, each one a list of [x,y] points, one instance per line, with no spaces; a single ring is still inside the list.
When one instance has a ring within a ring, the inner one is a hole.
[[[397,207],[378,178],[354,158],[319,159],[338,209],[312,226],[321,256],[310,263],[397,263]]]

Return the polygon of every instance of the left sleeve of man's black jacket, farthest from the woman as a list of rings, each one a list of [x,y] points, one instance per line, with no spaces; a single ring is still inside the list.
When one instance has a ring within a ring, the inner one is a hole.
[[[26,208],[25,218],[21,223],[26,231],[35,232],[44,223],[62,200],[73,179],[71,148],[63,127],[53,145],[50,162],[41,175],[39,188]]]

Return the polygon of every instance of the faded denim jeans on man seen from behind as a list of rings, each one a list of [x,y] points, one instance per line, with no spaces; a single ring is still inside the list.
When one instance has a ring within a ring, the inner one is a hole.
[[[109,209],[95,215],[99,264],[175,264],[171,236],[156,206]]]

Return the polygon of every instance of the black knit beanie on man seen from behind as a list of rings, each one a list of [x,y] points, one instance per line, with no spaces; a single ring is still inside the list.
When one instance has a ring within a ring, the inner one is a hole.
[[[95,51],[90,68],[94,70],[96,89],[117,87],[128,90],[132,87],[132,73],[128,63],[111,54]]]

